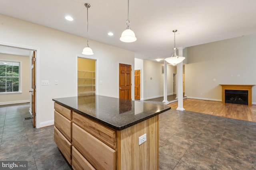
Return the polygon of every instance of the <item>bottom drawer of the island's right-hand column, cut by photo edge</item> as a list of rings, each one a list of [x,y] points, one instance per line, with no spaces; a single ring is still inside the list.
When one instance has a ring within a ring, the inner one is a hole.
[[[72,168],[74,170],[95,170],[74,146],[72,147]]]

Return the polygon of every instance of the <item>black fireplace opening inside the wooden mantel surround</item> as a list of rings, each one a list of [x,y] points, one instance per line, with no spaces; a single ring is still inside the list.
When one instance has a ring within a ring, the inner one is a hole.
[[[248,90],[225,90],[225,103],[248,105]]]

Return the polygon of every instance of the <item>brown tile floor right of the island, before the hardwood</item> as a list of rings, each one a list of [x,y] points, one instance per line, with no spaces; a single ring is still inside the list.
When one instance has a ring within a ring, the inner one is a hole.
[[[256,169],[256,123],[171,109],[160,114],[160,170]]]

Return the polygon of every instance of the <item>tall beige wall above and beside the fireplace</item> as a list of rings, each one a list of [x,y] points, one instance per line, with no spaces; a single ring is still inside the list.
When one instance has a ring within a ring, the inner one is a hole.
[[[256,34],[187,48],[188,98],[221,101],[219,84],[256,84]],[[256,104],[256,86],[252,88]]]

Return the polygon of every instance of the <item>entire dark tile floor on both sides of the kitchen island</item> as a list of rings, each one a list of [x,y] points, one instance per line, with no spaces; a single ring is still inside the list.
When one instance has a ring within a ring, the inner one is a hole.
[[[28,160],[31,170],[70,170],[53,126],[35,129],[28,104],[0,106],[0,160]],[[254,170],[256,123],[170,109],[160,114],[160,170]]]

